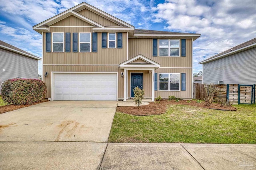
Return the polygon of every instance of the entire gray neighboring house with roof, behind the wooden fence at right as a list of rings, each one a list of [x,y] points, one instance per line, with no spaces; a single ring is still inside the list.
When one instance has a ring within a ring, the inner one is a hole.
[[[256,84],[256,38],[199,64],[203,64],[203,83]]]

